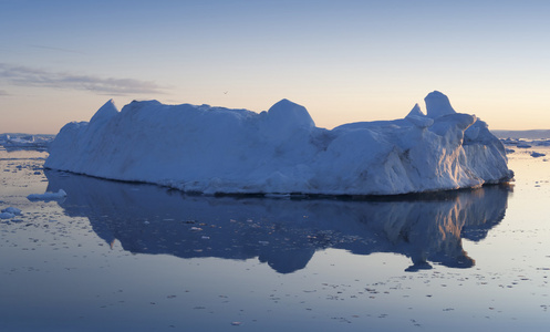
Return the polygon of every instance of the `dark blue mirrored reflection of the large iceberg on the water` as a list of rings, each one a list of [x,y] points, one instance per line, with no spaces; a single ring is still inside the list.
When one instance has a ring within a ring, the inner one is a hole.
[[[303,269],[325,248],[409,257],[407,271],[429,262],[469,268],[461,238],[479,241],[505,216],[509,188],[490,186],[414,197],[270,199],[188,196],[167,188],[46,172],[63,189],[69,216],[87,217],[108,243],[134,253],[180,258],[258,257],[280,273]]]

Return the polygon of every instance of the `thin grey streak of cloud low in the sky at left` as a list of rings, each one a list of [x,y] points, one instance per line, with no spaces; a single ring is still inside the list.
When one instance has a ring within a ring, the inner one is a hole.
[[[35,68],[0,63],[0,80],[14,85],[85,90],[97,94],[163,94],[155,82],[135,79],[98,77],[68,72],[50,72]]]

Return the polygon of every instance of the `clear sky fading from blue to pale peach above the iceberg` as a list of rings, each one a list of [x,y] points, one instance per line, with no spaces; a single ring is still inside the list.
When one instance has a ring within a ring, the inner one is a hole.
[[[264,111],[318,126],[445,93],[492,129],[550,128],[550,1],[0,0],[0,133],[55,134],[106,101]]]

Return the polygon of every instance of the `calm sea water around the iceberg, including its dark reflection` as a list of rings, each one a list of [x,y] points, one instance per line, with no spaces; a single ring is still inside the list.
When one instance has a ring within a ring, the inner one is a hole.
[[[546,331],[531,151],[512,186],[370,200],[187,196],[0,151],[0,208],[22,210],[0,220],[0,331]]]

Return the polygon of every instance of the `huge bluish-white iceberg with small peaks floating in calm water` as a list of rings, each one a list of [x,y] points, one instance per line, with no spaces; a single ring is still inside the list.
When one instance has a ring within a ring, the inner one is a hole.
[[[444,94],[402,120],[316,127],[288,100],[269,111],[112,101],[69,123],[46,168],[204,194],[395,195],[508,181],[504,145]]]

